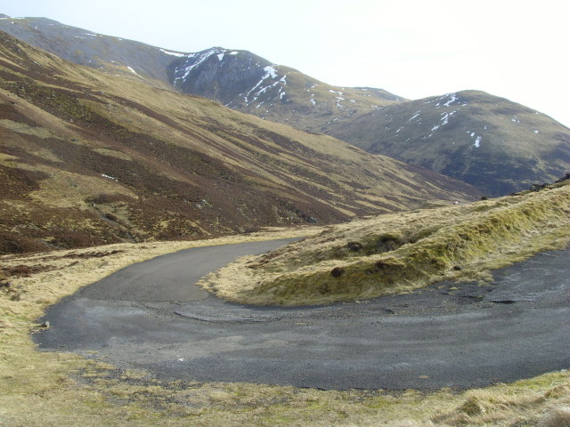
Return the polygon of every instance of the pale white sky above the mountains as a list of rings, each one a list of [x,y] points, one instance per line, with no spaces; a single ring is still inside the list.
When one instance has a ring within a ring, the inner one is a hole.
[[[477,89],[570,126],[566,0],[2,0],[183,52],[254,52],[338,86],[409,99]]]

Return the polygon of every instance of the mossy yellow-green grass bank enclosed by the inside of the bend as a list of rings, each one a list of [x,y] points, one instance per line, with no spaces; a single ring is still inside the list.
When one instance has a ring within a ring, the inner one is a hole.
[[[443,279],[490,280],[490,270],[570,239],[570,185],[323,230],[246,257],[202,285],[233,302],[312,305],[399,294]]]

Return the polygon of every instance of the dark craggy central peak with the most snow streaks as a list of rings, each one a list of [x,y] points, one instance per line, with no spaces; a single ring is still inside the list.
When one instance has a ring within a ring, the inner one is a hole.
[[[381,89],[327,85],[251,52],[220,47],[188,53],[168,68],[170,81],[180,92],[312,132],[321,132],[340,118],[401,101]]]

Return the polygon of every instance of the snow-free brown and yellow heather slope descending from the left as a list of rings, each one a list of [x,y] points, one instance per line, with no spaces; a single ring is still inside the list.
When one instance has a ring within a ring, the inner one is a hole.
[[[77,66],[0,32],[0,253],[338,222],[476,197],[443,175]]]

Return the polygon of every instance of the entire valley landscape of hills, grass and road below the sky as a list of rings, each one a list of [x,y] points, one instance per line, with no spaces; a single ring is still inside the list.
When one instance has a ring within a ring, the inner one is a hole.
[[[569,178],[490,93],[0,14],[0,424],[566,425]]]

